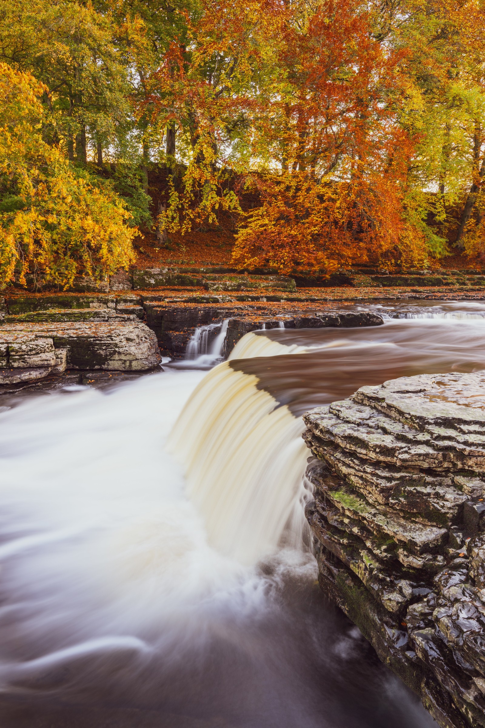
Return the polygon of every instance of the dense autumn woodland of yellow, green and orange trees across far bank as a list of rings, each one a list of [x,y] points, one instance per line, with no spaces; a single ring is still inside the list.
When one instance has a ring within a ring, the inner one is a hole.
[[[0,285],[197,231],[241,269],[484,259],[484,0],[0,0]]]

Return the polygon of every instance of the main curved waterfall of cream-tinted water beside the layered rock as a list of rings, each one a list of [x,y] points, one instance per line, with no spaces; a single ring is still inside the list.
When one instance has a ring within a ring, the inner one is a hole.
[[[308,457],[302,419],[257,383],[227,362],[217,365],[196,387],[169,438],[209,544],[246,564],[276,549],[289,520],[301,535]]]

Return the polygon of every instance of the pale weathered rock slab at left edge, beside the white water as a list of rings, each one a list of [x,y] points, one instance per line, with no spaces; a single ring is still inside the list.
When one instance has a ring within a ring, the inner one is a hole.
[[[0,329],[4,368],[38,365],[39,357],[46,359],[45,366],[55,365],[59,349],[65,349],[65,365],[71,369],[143,371],[160,362],[155,334],[139,321],[23,323]]]

